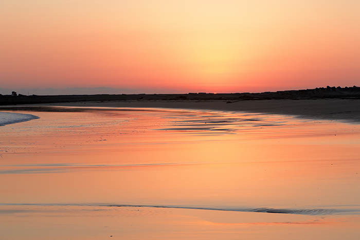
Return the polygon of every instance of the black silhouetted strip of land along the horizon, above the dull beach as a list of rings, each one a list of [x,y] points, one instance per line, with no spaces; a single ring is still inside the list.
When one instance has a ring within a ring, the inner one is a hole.
[[[360,99],[360,87],[317,87],[314,89],[285,90],[264,93],[189,93],[189,94],[119,94],[119,95],[17,95],[15,91],[11,95],[0,95],[0,105],[35,104],[35,103],[59,103],[59,102],[82,102],[82,101],[210,101],[223,100],[229,103],[245,100],[269,100],[269,99]]]

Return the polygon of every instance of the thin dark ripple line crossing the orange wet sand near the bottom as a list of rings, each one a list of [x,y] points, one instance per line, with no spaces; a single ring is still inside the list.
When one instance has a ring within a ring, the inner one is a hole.
[[[257,213],[282,213],[298,215],[331,215],[331,214],[360,214],[360,209],[282,209],[282,208],[230,208],[230,207],[201,207],[181,205],[129,205],[129,204],[4,204],[0,206],[77,206],[77,207],[133,207],[133,208],[170,208],[170,209],[194,209],[231,212],[257,212]]]

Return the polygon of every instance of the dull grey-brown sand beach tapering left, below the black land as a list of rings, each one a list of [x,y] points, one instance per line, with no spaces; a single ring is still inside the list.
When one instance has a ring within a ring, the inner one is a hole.
[[[39,104],[38,104],[39,105]],[[250,113],[285,114],[309,119],[360,123],[360,100],[250,100],[250,101],[88,101],[43,104],[51,106],[163,107]]]

